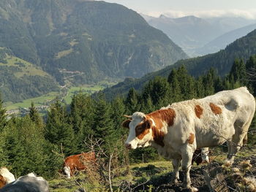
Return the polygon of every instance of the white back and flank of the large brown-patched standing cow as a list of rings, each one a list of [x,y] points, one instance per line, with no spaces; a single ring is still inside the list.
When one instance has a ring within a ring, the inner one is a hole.
[[[176,111],[175,124],[185,122],[183,126],[188,126],[184,129],[187,134],[195,133],[197,147],[214,147],[231,139],[236,131],[247,131],[243,128],[252,121],[255,99],[243,87],[203,99],[181,101],[170,107]],[[234,126],[241,129],[236,130]]]

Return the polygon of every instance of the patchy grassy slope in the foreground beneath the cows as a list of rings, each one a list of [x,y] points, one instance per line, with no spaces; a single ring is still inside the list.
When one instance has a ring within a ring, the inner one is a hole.
[[[222,152],[223,147],[215,147],[213,148],[213,150],[214,154],[211,155],[212,164],[209,164],[209,167],[216,165],[221,166],[225,161],[226,153]],[[248,159],[252,155],[255,155],[255,152],[255,147],[253,147],[253,149],[252,146],[248,148],[243,148],[240,152],[238,152],[233,167],[239,167],[238,164],[241,161],[243,161],[244,159]],[[253,162],[251,163],[253,166],[255,166]],[[199,188],[200,191],[208,191],[208,187],[203,177],[203,169],[206,169],[207,167],[208,166],[206,164],[199,166],[196,166],[194,164],[190,171],[192,183],[195,183],[195,186]],[[227,173],[231,175],[232,169],[225,169],[227,170]],[[152,189],[152,191],[157,191],[158,187],[160,187],[161,189],[167,188],[167,191],[184,191],[184,189],[182,188],[176,188],[170,185],[170,176],[173,172],[173,166],[171,165],[170,161],[156,161],[146,164],[132,164],[129,166],[129,170],[129,173],[127,174],[127,168],[120,168],[120,170],[118,170],[119,174],[113,176],[112,183],[114,191],[118,191],[118,186],[125,181],[131,184],[131,188],[135,188],[135,186],[144,183],[144,191],[151,191]],[[181,173],[181,177],[182,175],[183,174]],[[229,176],[227,176],[227,180],[229,180]],[[145,183],[146,181],[148,182]],[[86,191],[109,191],[108,186],[107,188],[102,188],[102,185],[97,184],[97,181],[95,180],[95,178],[91,177],[91,175],[81,173],[78,174],[78,176],[76,177],[72,177],[71,180],[67,180],[65,177],[59,177],[50,180],[49,184],[50,191],[53,192],[71,192],[78,190],[78,188],[80,187],[85,188]],[[143,191],[142,188],[143,186],[140,185],[135,191]]]

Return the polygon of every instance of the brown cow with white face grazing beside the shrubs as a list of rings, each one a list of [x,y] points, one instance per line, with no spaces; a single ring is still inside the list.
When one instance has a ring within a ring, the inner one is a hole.
[[[96,157],[94,152],[81,153],[78,155],[71,155],[64,159],[63,172],[70,178],[75,171],[85,170],[91,168],[96,164]]]

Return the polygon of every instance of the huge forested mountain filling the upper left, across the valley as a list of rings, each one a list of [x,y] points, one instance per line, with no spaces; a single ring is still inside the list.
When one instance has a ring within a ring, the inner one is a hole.
[[[0,26],[0,47],[61,85],[141,77],[187,58],[138,13],[104,1],[3,0]]]

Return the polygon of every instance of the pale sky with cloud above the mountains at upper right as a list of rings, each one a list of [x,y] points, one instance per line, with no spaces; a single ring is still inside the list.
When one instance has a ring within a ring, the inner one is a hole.
[[[138,13],[172,18],[195,15],[207,17],[243,17],[256,19],[256,0],[105,0],[122,4]]]

